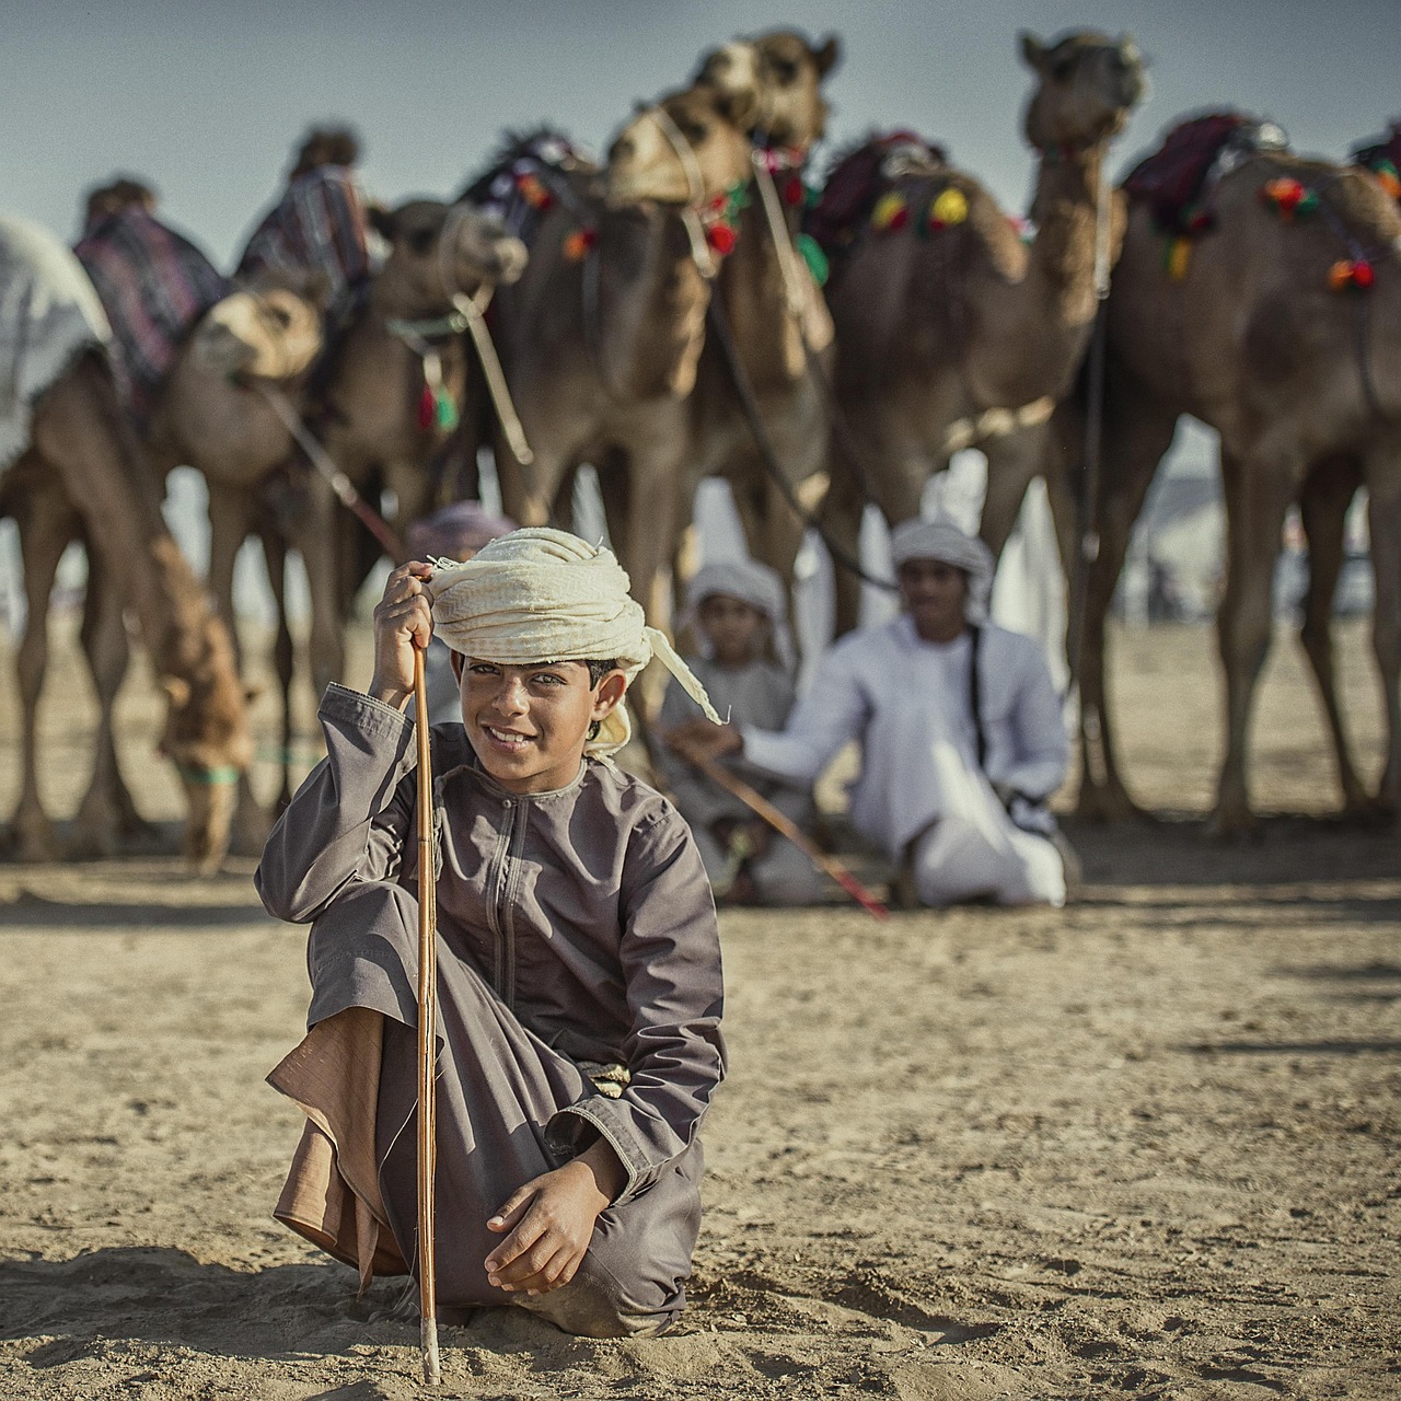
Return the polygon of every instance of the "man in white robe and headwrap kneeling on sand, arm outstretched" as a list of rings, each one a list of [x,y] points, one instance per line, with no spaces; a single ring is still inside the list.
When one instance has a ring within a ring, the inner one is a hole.
[[[902,615],[842,637],[782,733],[691,723],[672,744],[744,754],[811,783],[857,740],[852,820],[920,904],[1061,905],[1063,843],[1045,803],[1068,747],[1045,660],[986,622],[992,556],[981,541],[948,520],[915,520],[891,544]]]

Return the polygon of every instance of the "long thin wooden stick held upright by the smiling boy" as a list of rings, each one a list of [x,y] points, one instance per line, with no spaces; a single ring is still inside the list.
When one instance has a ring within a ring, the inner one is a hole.
[[[423,650],[413,649],[413,715],[419,745],[419,1344],[423,1380],[443,1380],[433,1267],[433,1177],[437,1168],[437,871],[433,863],[433,769]]]

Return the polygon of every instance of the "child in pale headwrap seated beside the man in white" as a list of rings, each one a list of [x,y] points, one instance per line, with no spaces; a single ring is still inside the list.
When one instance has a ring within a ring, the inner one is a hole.
[[[736,724],[782,729],[793,709],[793,679],[780,664],[775,637],[783,628],[787,598],[779,576],[754,560],[706,565],[686,590],[686,616],[703,656],[686,657],[716,710]],[[672,681],[661,702],[665,731],[695,719],[700,708]],[[740,776],[799,827],[813,822],[813,789],[754,775],[734,759]],[[717,899],[755,905],[815,905],[824,881],[813,863],[733,793],[682,759],[660,755],[661,773],[681,815],[700,848]]]

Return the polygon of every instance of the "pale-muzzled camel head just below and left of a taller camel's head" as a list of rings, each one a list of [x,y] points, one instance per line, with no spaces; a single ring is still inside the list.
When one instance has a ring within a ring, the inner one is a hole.
[[[748,181],[750,137],[708,85],[672,92],[637,115],[608,149],[614,203],[700,206]]]

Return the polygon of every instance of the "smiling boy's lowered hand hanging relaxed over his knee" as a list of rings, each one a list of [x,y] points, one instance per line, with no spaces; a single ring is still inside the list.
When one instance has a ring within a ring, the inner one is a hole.
[[[510,1231],[483,1261],[486,1278],[506,1293],[544,1295],[574,1278],[594,1222],[626,1182],[607,1139],[573,1161],[532,1177],[492,1216],[486,1229]]]

